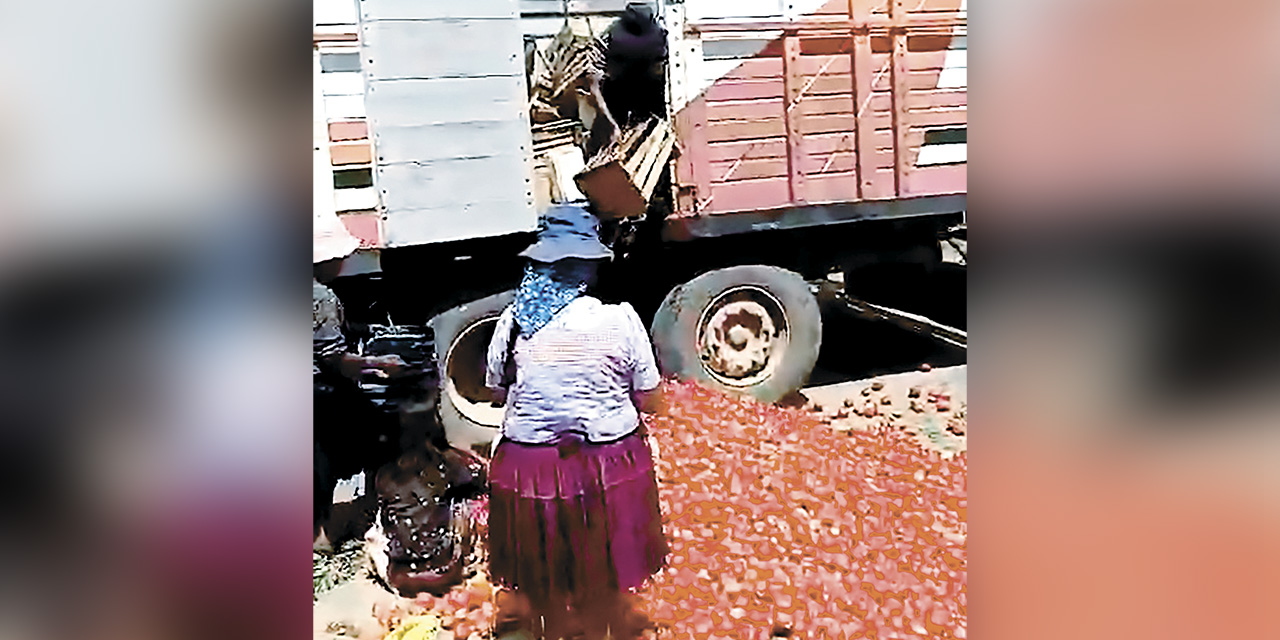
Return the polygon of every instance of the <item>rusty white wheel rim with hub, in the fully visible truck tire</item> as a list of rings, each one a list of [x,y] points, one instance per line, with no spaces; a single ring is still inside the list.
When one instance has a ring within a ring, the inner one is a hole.
[[[726,289],[698,321],[696,348],[703,369],[728,387],[751,387],[768,379],[788,342],[785,307],[759,287]]]

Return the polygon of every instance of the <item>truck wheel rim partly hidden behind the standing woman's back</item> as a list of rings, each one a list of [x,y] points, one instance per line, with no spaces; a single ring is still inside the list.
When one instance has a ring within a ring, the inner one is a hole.
[[[444,356],[444,394],[462,417],[493,429],[502,426],[506,407],[493,406],[493,397],[484,385],[485,353],[498,316],[484,317],[467,325],[449,344]]]

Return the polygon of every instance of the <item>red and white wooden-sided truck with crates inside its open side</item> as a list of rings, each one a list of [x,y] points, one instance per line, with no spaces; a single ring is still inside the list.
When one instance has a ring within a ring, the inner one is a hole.
[[[483,352],[544,204],[526,56],[564,12],[603,28],[625,4],[317,4],[320,22],[321,5],[330,15],[316,27],[329,133],[317,148],[362,244],[334,288],[357,320],[430,324],[458,444],[500,421]],[[611,224],[618,259],[602,294],[653,317],[666,372],[777,401],[818,357],[810,282],[931,269],[940,232],[964,219],[965,4],[653,6],[669,38],[669,188],[644,218]]]

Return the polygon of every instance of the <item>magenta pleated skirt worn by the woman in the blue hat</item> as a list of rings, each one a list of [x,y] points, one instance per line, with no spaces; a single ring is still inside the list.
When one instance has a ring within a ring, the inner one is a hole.
[[[653,456],[639,434],[503,440],[489,483],[489,572],[503,586],[576,600],[636,589],[666,562]]]

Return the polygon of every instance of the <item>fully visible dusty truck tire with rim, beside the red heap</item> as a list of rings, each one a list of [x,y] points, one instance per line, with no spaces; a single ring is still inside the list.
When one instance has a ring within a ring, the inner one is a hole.
[[[653,343],[667,375],[777,402],[809,380],[822,314],[799,274],[731,266],[672,289],[654,316]]]

